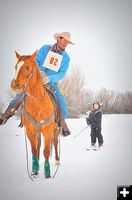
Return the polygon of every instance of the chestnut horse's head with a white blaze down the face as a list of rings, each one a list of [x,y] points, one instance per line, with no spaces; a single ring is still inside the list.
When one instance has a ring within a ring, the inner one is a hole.
[[[15,65],[15,76],[11,82],[11,88],[16,92],[22,92],[25,89],[28,79],[32,75],[34,59],[37,52],[30,56],[20,56],[17,52],[15,53],[18,61]]]

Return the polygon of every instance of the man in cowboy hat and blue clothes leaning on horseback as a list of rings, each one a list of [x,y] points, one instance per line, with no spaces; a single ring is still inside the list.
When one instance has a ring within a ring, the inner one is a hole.
[[[54,38],[57,42],[54,45],[44,45],[40,48],[36,56],[36,63],[42,73],[43,83],[49,84],[51,90],[55,93],[57,101],[62,112],[60,123],[62,126],[62,134],[67,136],[70,131],[65,122],[67,118],[67,102],[65,97],[61,94],[57,82],[60,81],[66,74],[70,58],[65,51],[68,44],[71,42],[71,34],[69,32],[55,33]],[[6,121],[15,114],[15,111],[21,105],[24,99],[24,94],[17,94],[13,99],[7,110],[0,116],[0,124],[5,124]]]

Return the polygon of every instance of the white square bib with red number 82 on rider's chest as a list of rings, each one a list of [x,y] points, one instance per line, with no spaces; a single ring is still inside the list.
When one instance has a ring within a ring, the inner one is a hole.
[[[58,72],[62,61],[62,55],[49,51],[44,62],[44,66],[48,69]]]

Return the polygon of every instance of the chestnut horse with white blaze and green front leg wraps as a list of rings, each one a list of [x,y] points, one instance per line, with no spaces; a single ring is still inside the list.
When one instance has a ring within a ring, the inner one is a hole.
[[[41,133],[44,136],[44,173],[50,175],[50,147],[53,140],[55,146],[55,159],[58,156],[58,129],[54,117],[54,104],[46,89],[44,89],[42,76],[35,63],[36,52],[31,56],[20,56],[16,52],[18,62],[15,66],[15,76],[11,88],[15,92],[25,93],[22,110],[22,122],[26,127],[26,134],[31,144],[32,174],[39,171],[39,153],[41,146]]]

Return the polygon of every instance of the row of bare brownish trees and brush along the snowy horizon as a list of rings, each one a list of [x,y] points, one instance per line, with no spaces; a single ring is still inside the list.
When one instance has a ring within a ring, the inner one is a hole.
[[[81,69],[77,66],[72,67],[59,86],[67,99],[69,117],[71,118],[80,117],[86,111],[91,110],[95,100],[103,102],[103,113],[132,113],[132,90],[123,93],[102,88],[100,91],[94,92],[86,85]],[[14,98],[14,95],[9,90],[9,101]],[[18,110],[18,116],[20,112],[21,110]]]

